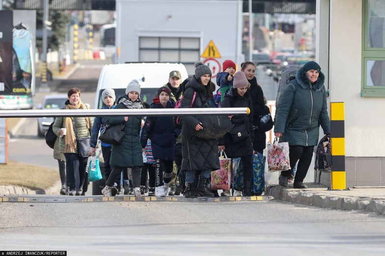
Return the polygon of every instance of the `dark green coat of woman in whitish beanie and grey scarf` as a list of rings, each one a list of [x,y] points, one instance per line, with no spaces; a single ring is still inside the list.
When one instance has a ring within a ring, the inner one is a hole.
[[[123,96],[128,99],[127,95]],[[119,99],[117,100],[117,102]],[[115,107],[116,109],[126,108],[122,103]],[[111,110],[113,111],[113,110]],[[107,116],[106,124],[117,125],[124,123],[124,116]],[[142,147],[139,140],[139,131],[141,127],[140,116],[129,116],[126,122],[126,134],[119,145],[112,145],[110,165],[121,167],[142,166]]]

